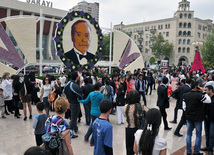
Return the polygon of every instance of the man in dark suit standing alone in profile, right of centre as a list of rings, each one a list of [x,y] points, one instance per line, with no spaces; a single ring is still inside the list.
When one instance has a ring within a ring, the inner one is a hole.
[[[160,108],[161,115],[163,117],[163,123],[164,123],[164,130],[171,130],[167,123],[167,113],[166,108],[169,108],[169,98],[167,95],[167,86],[168,78],[163,77],[162,78],[162,84],[158,86],[157,94],[158,94],[158,101],[157,106]]]

